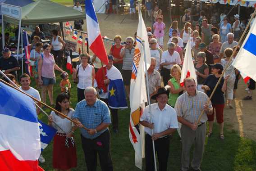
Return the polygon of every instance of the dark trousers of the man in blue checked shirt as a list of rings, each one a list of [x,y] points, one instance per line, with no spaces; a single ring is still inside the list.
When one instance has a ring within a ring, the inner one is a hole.
[[[81,139],[87,171],[96,171],[97,153],[99,154],[101,171],[113,171],[110,156],[110,131],[106,130],[96,139],[87,139],[82,135]]]

